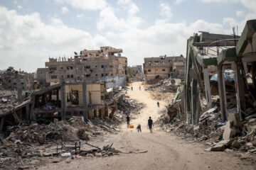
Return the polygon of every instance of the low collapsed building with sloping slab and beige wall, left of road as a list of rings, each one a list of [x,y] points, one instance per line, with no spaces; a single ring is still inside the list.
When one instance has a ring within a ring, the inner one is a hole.
[[[107,86],[111,86],[108,84]],[[43,119],[67,120],[73,116],[82,116],[84,120],[90,118],[112,117],[117,111],[116,101],[124,94],[114,96],[114,86],[106,88],[105,82],[65,82],[53,84],[44,89],[33,91],[30,97],[26,96],[23,101],[11,101],[3,96],[1,102],[5,103],[1,109],[0,132],[8,125],[16,123],[37,122]],[[122,89],[119,87],[119,89]],[[9,95],[10,96],[10,95]],[[14,96],[15,94],[11,95]],[[9,106],[8,102],[16,103]]]

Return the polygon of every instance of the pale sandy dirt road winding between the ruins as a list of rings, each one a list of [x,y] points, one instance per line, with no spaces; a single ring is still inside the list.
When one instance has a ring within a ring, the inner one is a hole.
[[[228,152],[205,152],[201,144],[188,144],[178,137],[161,132],[154,128],[154,133],[149,133],[146,127],[149,116],[156,120],[159,111],[164,109],[165,103],[160,102],[160,108],[151,99],[148,91],[139,91],[139,83],[134,83],[134,90],[128,91],[130,98],[146,104],[142,113],[134,115],[128,129],[124,124],[118,135],[108,135],[110,142],[95,141],[92,144],[102,147],[114,143],[113,147],[130,154],[119,154],[113,157],[82,157],[71,162],[58,162],[48,164],[40,169],[256,169],[255,166],[242,162],[238,157],[233,157]],[[142,125],[142,133],[136,132],[136,126]],[[137,153],[144,152],[146,153]]]

